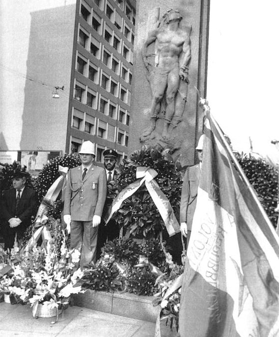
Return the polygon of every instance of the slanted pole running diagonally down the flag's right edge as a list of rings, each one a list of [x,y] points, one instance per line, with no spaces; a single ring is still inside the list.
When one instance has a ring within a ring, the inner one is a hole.
[[[263,205],[260,203],[260,201],[259,201],[259,199],[258,199],[258,196],[257,196],[257,193],[255,192],[254,188],[251,186],[251,184],[250,184],[250,182],[249,182],[249,180],[248,180],[246,174],[244,173],[242,167],[240,166],[240,163],[239,163],[238,160],[236,159],[236,157],[235,157],[235,155],[234,155],[234,153],[233,153],[233,150],[231,149],[231,147],[230,147],[229,144],[227,143],[227,140],[226,140],[226,138],[224,137],[224,135],[223,135],[223,133],[222,133],[222,131],[221,131],[220,126],[218,125],[218,123],[216,122],[216,120],[214,119],[214,117],[212,116],[210,110],[207,111],[207,114],[209,114],[209,115],[211,116],[211,120],[212,120],[214,126],[216,127],[216,129],[217,129],[217,131],[218,131],[218,133],[219,133],[221,139],[223,140],[224,145],[225,145],[225,147],[226,147],[226,150],[227,150],[228,153],[230,154],[231,159],[233,160],[235,166],[237,167],[237,169],[238,169],[238,171],[239,171],[239,173],[240,173],[242,179],[245,181],[247,187],[249,188],[250,192],[252,193],[252,195],[253,195],[253,197],[254,197],[254,199],[255,199],[255,201],[256,201],[256,203],[257,203],[259,209],[261,210],[261,212],[262,212],[262,214],[263,214],[263,216],[264,216],[266,222],[268,223],[269,227],[272,228],[272,230],[274,231],[273,234],[274,234],[274,236],[276,237],[276,240],[279,241],[279,240],[278,240],[278,235],[276,235],[276,231],[275,231],[275,229],[274,229],[274,227],[273,227],[273,225],[272,225],[272,223],[271,223],[271,221],[270,221],[270,218],[268,217],[268,215],[267,215],[267,213],[266,213],[266,211],[265,211]]]

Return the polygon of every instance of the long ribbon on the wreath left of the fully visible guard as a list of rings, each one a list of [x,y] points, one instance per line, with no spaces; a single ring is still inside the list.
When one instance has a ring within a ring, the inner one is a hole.
[[[42,237],[42,241],[47,240],[49,241],[51,239],[50,230],[47,227],[47,209],[48,207],[51,207],[54,205],[55,200],[57,199],[60,192],[62,192],[62,200],[63,200],[63,194],[65,191],[66,183],[67,183],[67,173],[69,168],[58,166],[58,172],[60,176],[54,181],[54,183],[49,187],[47,190],[42,202],[40,203],[40,206],[38,208],[35,221],[34,221],[34,229],[36,231],[34,232],[33,236],[29,239],[28,244],[26,248],[29,246],[29,244],[34,244],[38,241],[40,236]]]

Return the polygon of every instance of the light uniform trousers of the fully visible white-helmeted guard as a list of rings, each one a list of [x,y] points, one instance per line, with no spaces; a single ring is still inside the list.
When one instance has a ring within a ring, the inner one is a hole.
[[[80,267],[96,262],[98,227],[92,227],[92,221],[71,222],[71,249],[80,251]]]

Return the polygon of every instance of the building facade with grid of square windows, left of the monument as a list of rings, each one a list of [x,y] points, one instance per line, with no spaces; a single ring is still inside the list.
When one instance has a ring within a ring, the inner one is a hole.
[[[127,154],[134,26],[135,1],[78,1],[66,152],[91,140],[97,162],[106,148]]]

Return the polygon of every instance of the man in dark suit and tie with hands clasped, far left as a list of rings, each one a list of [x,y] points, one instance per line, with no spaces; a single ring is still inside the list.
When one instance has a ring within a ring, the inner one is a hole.
[[[17,240],[23,236],[25,229],[31,225],[31,217],[36,214],[37,195],[33,189],[25,186],[27,175],[21,169],[15,169],[13,188],[3,191],[0,212],[5,249],[13,247],[15,234]]]

